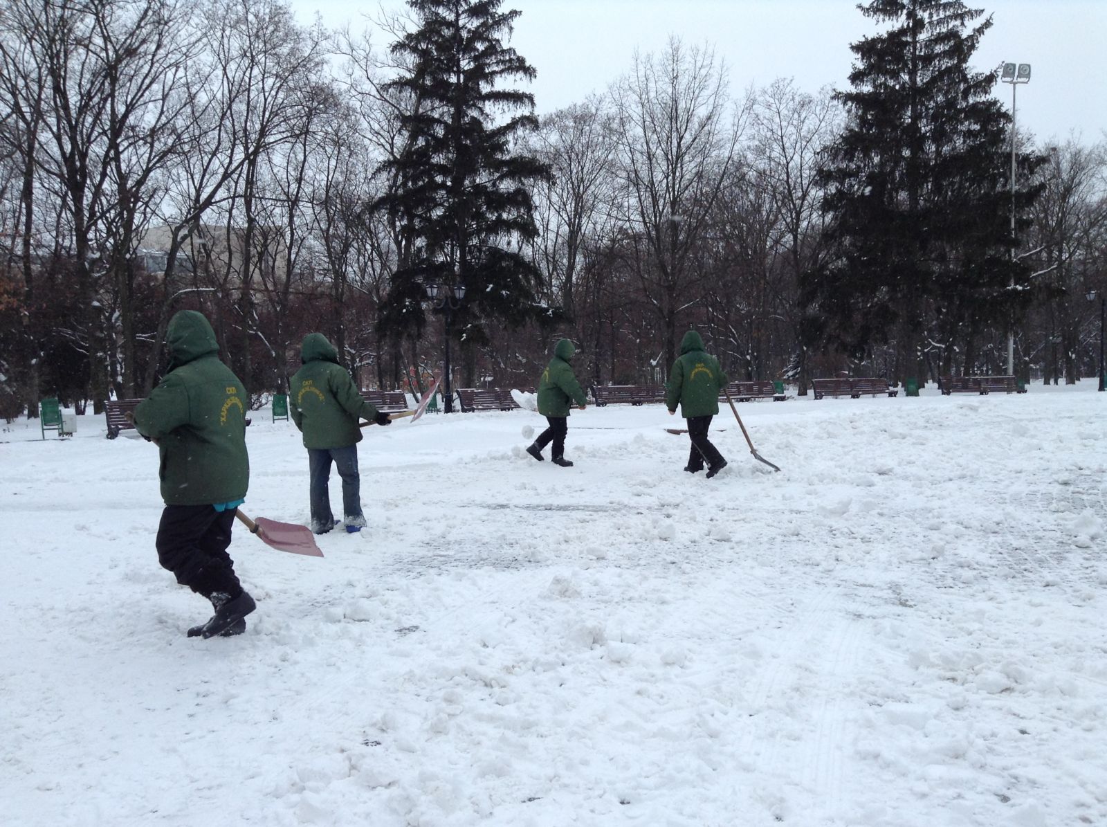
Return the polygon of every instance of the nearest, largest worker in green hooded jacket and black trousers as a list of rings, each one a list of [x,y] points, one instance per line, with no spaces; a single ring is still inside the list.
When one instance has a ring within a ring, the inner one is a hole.
[[[195,310],[169,321],[169,372],[135,407],[138,433],[157,443],[165,510],[157,557],[215,614],[188,637],[241,634],[256,608],[227,554],[235,511],[250,483],[246,387],[219,361],[211,325]]]

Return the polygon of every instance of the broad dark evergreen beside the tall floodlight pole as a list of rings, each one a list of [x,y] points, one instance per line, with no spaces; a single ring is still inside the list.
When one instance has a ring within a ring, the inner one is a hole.
[[[960,0],[859,8],[890,27],[850,46],[849,123],[821,174],[838,255],[807,273],[801,301],[811,339],[853,359],[894,341],[898,378],[921,379],[924,338],[971,349],[1025,308],[1008,287],[1028,277],[1011,258],[1010,115],[995,73],[969,65],[991,17]]]

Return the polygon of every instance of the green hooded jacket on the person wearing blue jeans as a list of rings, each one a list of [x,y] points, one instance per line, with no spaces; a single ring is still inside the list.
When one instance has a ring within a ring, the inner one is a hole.
[[[288,411],[303,433],[306,448],[344,448],[361,442],[358,420],[377,410],[362,399],[339,352],[322,333],[308,333],[300,349],[303,366],[289,384]]]

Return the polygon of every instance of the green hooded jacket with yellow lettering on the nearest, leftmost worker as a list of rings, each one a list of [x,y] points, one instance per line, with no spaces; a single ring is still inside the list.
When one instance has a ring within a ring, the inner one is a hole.
[[[166,505],[214,505],[246,496],[246,387],[219,361],[208,320],[182,310],[166,335],[169,372],[135,407],[135,427],[158,443]]]

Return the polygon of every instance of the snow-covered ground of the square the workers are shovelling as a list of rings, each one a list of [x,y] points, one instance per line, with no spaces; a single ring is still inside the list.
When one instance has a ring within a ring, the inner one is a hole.
[[[247,633],[153,546],[154,446],[0,432],[0,823],[1107,824],[1107,394],[428,415],[361,444],[370,528],[246,531]],[[244,510],[303,521],[255,415]],[[331,484],[335,506],[339,480]]]

